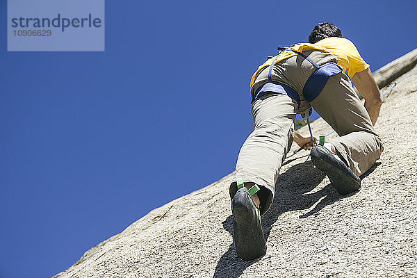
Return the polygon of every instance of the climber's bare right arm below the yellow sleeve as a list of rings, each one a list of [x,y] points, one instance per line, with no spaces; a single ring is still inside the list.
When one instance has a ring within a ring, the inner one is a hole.
[[[382,105],[382,99],[372,73],[369,69],[357,72],[352,76],[352,81],[363,99],[365,99],[366,111],[368,111],[372,124],[375,125]]]

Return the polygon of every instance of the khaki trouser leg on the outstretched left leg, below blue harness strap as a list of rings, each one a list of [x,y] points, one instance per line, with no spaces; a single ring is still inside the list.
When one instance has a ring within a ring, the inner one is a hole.
[[[279,169],[291,148],[296,112],[297,103],[287,95],[265,95],[252,106],[254,131],[240,149],[230,197],[236,194],[239,178],[248,189],[258,185],[261,214],[272,203]]]

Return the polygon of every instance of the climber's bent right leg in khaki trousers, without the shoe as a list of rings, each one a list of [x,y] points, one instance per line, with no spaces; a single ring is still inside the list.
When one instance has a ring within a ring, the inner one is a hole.
[[[329,143],[354,174],[360,176],[379,159],[382,140],[345,74],[332,76],[311,106],[340,136]]]

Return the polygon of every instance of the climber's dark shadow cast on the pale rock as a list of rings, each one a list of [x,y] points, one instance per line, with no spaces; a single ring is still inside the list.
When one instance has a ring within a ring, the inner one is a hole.
[[[275,184],[275,197],[270,209],[262,216],[263,233],[265,240],[268,240],[270,231],[275,222],[277,222],[279,215],[287,211],[299,211],[311,208],[313,204],[318,204],[308,213],[300,215],[300,218],[307,218],[314,213],[317,213],[322,208],[329,204],[333,204],[343,197],[338,195],[331,184],[328,184],[321,190],[315,193],[309,193],[316,188],[325,174],[313,167],[311,161],[300,163],[290,167],[286,172],[279,175],[277,183]],[[230,234],[233,233],[233,216],[230,215],[223,222],[223,227]],[[237,278],[242,275],[245,269],[252,265],[252,263],[259,261],[243,261],[236,254],[233,243],[229,250],[220,258],[218,265],[215,268],[214,278],[230,277]]]

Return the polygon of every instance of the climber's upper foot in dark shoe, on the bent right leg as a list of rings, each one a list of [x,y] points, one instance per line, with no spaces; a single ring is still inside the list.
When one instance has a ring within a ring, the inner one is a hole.
[[[337,192],[347,195],[361,188],[361,179],[336,154],[317,145],[311,149],[311,162],[327,174]]]

